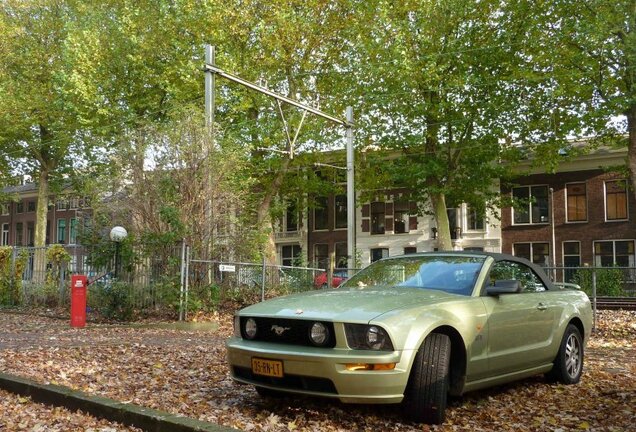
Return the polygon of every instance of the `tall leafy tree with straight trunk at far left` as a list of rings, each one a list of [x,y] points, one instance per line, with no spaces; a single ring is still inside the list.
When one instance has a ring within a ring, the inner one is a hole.
[[[0,165],[38,183],[35,245],[46,241],[49,183],[73,166],[78,124],[61,91],[68,69],[64,44],[72,10],[62,1],[0,6]]]

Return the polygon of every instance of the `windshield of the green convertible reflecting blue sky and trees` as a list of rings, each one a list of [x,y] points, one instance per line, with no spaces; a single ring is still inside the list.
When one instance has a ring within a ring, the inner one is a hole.
[[[471,295],[485,257],[456,255],[408,256],[377,261],[341,287],[424,288]]]

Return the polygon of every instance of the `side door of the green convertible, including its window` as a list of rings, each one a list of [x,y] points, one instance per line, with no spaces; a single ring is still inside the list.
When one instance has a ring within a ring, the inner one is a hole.
[[[521,262],[498,261],[490,280],[518,280],[518,293],[482,296],[488,314],[488,366],[500,375],[545,364],[555,326],[555,305],[532,268]]]

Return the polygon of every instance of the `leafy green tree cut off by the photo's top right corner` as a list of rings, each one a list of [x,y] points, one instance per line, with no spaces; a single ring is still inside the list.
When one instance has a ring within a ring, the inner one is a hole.
[[[539,1],[515,12],[531,24],[523,52],[550,91],[554,128],[596,145],[627,144],[636,193],[636,1]]]

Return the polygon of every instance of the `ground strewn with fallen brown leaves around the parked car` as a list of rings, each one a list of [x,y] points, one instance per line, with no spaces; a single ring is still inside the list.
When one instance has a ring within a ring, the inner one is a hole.
[[[451,400],[446,423],[430,428],[404,422],[399,406],[261,399],[229,379],[231,317],[212,318],[216,331],[71,329],[66,321],[0,313],[0,370],[248,431],[636,431],[635,312],[600,314],[580,384],[535,377],[471,393]],[[5,429],[7,419],[19,425],[16,410],[0,414]]]

